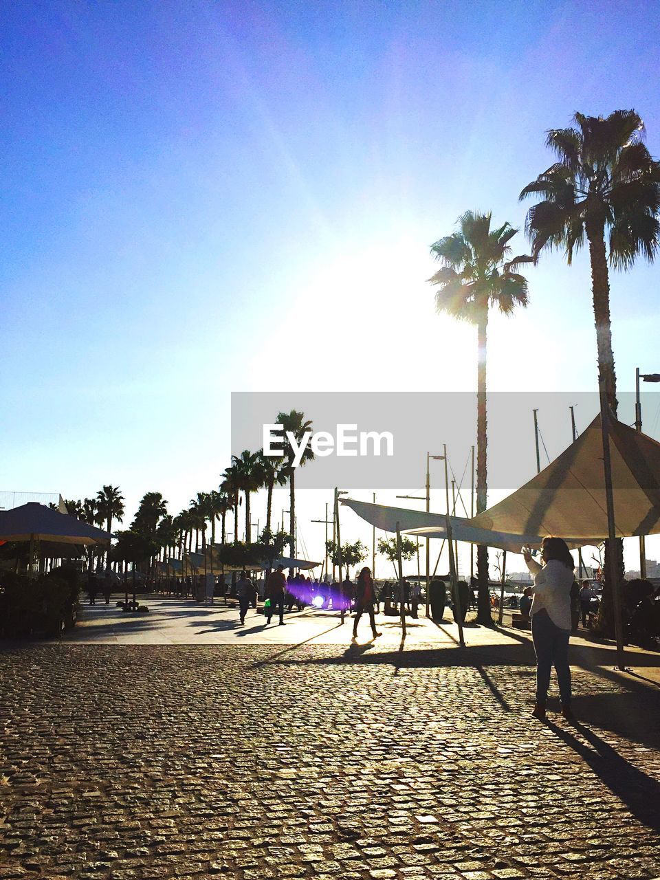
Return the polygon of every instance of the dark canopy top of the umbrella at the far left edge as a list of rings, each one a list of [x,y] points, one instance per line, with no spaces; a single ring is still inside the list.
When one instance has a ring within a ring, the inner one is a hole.
[[[28,502],[11,510],[0,510],[0,540],[56,540],[64,544],[106,544],[112,535],[81,522],[68,513],[58,513],[44,504]]]

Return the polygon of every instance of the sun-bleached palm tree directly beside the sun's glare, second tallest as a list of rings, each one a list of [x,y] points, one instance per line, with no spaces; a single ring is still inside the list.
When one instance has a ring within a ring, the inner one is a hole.
[[[473,211],[458,217],[458,231],[440,238],[431,253],[442,263],[429,278],[438,287],[436,311],[477,326],[477,513],[487,505],[487,430],[486,430],[486,342],[488,307],[496,305],[510,315],[517,305],[525,306],[527,282],[505,262],[510,255],[509,242],[517,233],[505,223],[490,228],[491,214]],[[519,258],[518,258],[519,259]],[[488,547],[477,547],[479,596],[477,621],[492,625],[488,593]]]

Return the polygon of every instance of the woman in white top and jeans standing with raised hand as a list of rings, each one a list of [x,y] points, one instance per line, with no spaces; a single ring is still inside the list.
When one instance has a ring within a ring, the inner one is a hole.
[[[536,703],[532,715],[546,717],[547,689],[554,665],[559,683],[561,715],[572,718],[570,708],[570,667],[568,639],[571,630],[570,590],[575,563],[561,538],[544,538],[541,544],[543,565],[523,552],[527,568],[534,576],[532,587],[532,640],[536,651]]]

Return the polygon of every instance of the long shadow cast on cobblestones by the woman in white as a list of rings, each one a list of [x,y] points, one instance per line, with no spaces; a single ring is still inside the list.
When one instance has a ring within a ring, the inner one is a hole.
[[[545,723],[555,737],[577,752],[612,794],[626,804],[634,818],[660,831],[660,782],[622,758],[611,745],[583,724],[574,723],[573,733],[554,722]],[[578,736],[586,742],[581,742]]]

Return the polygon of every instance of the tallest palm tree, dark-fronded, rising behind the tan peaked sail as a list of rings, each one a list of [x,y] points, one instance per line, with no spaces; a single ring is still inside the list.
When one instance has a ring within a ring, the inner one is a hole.
[[[520,198],[541,196],[527,214],[530,259],[536,261],[544,249],[559,247],[570,265],[586,238],[599,380],[616,414],[608,263],[628,269],[640,254],[649,261],[655,257],[660,243],[660,163],[644,146],[644,124],[634,110],[615,110],[605,119],[576,113],[574,121],[576,128],[548,131],[546,145],[558,161],[524,187]],[[623,578],[620,539],[613,546],[605,542],[601,623],[608,631],[613,626],[610,571]]]

